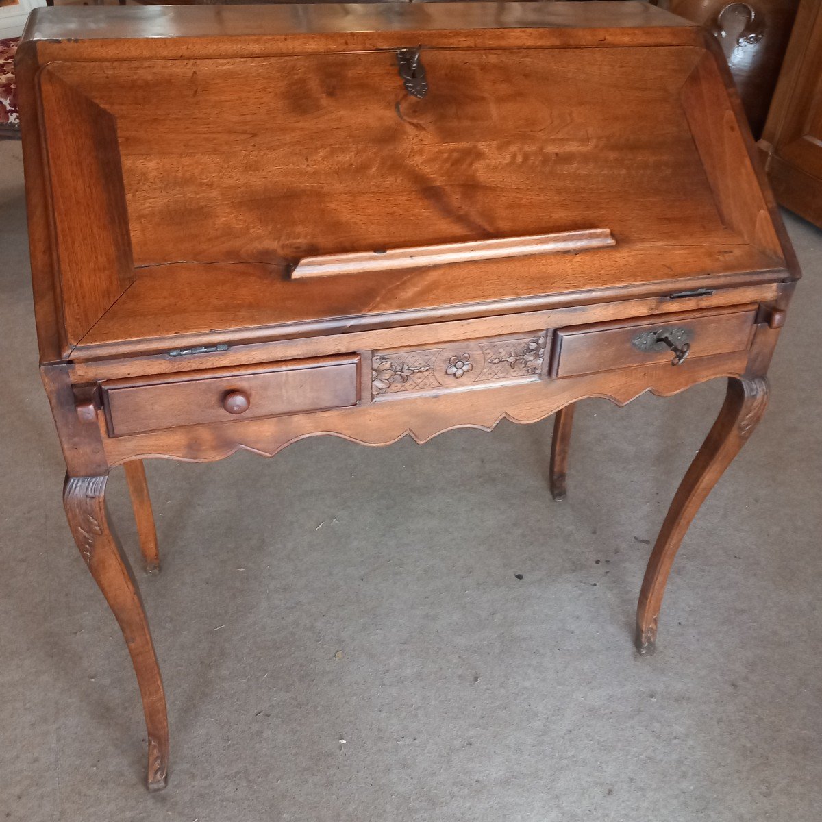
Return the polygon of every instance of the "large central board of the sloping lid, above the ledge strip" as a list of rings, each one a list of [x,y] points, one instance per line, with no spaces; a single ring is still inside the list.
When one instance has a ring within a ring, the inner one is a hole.
[[[722,233],[677,99],[699,54],[423,48],[423,99],[395,51],[47,76],[116,118],[136,266],[278,263],[570,229]]]

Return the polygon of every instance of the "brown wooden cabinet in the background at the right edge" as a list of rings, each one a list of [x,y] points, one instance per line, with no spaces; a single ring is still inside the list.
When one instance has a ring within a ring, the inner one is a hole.
[[[803,0],[760,150],[777,200],[822,228],[822,6]]]

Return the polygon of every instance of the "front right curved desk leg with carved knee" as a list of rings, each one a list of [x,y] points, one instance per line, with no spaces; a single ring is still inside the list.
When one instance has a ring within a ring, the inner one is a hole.
[[[640,653],[653,653],[668,573],[688,526],[745,445],[767,402],[768,381],[764,377],[728,380],[722,410],[677,489],[645,570],[636,612],[636,647]]]

